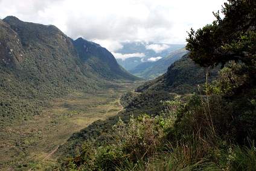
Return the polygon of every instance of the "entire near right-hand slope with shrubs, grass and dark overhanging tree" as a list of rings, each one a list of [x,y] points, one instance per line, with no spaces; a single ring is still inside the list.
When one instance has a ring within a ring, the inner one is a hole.
[[[256,170],[256,2],[222,13],[188,33],[190,53],[167,73],[124,95],[118,116],[69,138],[60,168]]]

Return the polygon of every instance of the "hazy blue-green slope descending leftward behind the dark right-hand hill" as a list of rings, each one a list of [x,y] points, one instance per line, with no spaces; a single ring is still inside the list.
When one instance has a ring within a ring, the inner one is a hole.
[[[171,52],[169,55],[161,58],[158,61],[141,63],[130,70],[130,72],[141,78],[154,79],[165,73],[171,64],[179,60],[183,55],[187,53],[187,50],[179,49],[177,51]]]

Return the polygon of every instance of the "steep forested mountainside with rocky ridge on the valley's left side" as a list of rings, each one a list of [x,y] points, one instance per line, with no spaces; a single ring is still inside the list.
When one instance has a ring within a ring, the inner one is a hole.
[[[101,46],[88,43],[83,54],[73,43],[53,25],[0,20],[1,123],[39,113],[46,99],[113,86],[107,79],[138,79]]]

